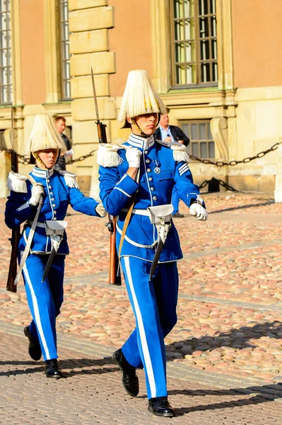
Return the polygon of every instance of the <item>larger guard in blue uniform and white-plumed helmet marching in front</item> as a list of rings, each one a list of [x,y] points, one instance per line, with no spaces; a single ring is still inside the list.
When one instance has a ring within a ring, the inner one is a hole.
[[[172,189],[196,220],[208,214],[184,145],[154,140],[160,113],[165,107],[146,72],[129,72],[118,119],[131,127],[131,135],[122,146],[101,145],[98,164],[100,199],[118,216],[117,251],[136,318],[136,329],[113,360],[129,395],[138,395],[136,368],[144,368],[148,410],[175,416],[168,402],[164,344],[177,322],[177,260],[182,258],[171,220]]]

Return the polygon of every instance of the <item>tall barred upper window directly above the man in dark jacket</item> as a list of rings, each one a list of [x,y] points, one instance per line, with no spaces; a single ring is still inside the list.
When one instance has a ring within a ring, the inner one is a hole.
[[[171,0],[172,86],[218,81],[216,0]]]

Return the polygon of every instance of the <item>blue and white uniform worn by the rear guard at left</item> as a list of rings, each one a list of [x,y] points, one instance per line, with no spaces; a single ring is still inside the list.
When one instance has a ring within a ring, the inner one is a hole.
[[[23,267],[23,279],[28,297],[28,305],[33,316],[30,332],[39,338],[44,360],[57,358],[56,317],[63,302],[64,260],[69,254],[69,246],[64,232],[59,250],[54,257],[47,278],[42,282],[43,273],[52,251],[50,237],[45,234],[45,220],[64,220],[68,205],[74,210],[87,215],[100,217],[95,210],[98,202],[86,198],[79,191],[76,176],[66,171],[43,170],[36,166],[30,176],[37,183],[42,183],[45,198],[30,247],[30,254]],[[32,183],[25,176],[10,173],[8,188],[11,189],[6,203],[5,222],[11,229],[21,225],[19,251],[23,252],[33,223],[37,207],[28,201],[31,196]]]

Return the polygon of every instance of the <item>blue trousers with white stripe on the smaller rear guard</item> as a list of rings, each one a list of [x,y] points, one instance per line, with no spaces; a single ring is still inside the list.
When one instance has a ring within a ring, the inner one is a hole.
[[[23,267],[25,292],[33,316],[30,332],[39,339],[44,360],[57,358],[56,317],[64,300],[64,260],[56,255],[47,278],[41,282],[48,255],[31,254]]]

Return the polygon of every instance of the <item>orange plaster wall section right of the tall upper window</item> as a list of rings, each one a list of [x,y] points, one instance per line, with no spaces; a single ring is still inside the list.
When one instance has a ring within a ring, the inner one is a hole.
[[[235,0],[232,4],[235,86],[281,85],[281,0]]]

